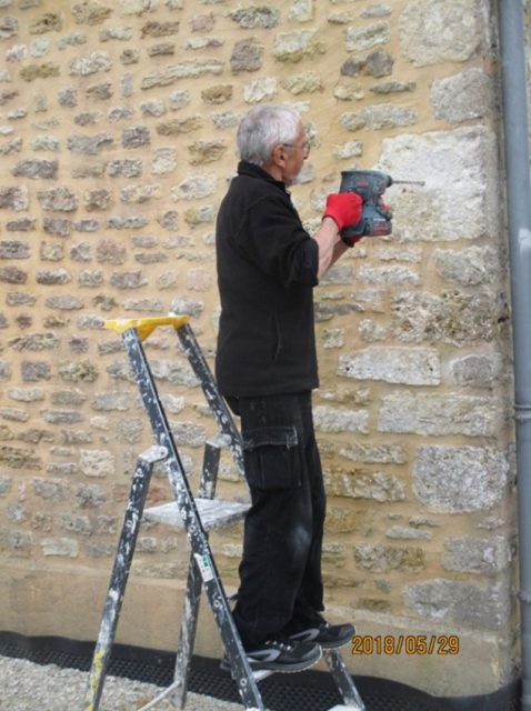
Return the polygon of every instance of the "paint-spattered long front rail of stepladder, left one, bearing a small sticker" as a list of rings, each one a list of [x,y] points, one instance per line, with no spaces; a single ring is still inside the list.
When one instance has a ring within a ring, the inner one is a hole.
[[[123,341],[133,371],[138,377],[140,394],[150,418],[153,434],[156,435],[158,444],[164,447],[169,452],[164,460],[168,479],[202,577],[204,592],[238,680],[240,697],[248,709],[264,711],[263,702],[240,641],[238,629],[232,619],[229,602],[216,567],[216,561],[210,551],[210,545],[188,479],[184,474],[173,435],[160,402],[153,375],[134,328],[124,331]]]

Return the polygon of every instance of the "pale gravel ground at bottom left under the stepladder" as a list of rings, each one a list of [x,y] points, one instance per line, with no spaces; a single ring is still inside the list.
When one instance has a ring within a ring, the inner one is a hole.
[[[82,711],[88,672],[40,665],[23,659],[0,657],[1,711]],[[107,677],[100,711],[134,711],[162,689],[153,684]],[[197,693],[188,694],[186,711],[242,711],[240,704]],[[153,711],[174,711],[167,701]]]

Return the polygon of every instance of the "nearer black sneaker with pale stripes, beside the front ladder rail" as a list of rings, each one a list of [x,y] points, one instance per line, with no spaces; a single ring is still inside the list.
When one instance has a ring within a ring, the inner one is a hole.
[[[252,670],[280,672],[302,671],[312,667],[321,658],[322,651],[315,642],[268,640],[260,649],[246,651]],[[227,655],[220,664],[223,671],[231,671]]]

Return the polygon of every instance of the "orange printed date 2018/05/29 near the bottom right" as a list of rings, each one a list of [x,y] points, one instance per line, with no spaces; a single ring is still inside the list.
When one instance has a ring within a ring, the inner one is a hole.
[[[354,655],[370,654],[459,654],[458,634],[354,634]]]

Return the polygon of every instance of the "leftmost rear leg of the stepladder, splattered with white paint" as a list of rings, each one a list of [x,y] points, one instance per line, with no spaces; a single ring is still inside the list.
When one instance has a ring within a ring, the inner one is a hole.
[[[137,461],[137,469],[131,482],[129,503],[123,518],[123,525],[103,608],[100,631],[92,657],[89,683],[83,701],[83,711],[97,711],[99,708],[153,462],[164,453],[161,452],[160,449],[161,448],[151,448],[148,452],[141,454]],[[153,452],[153,457],[150,457],[151,452]]]

